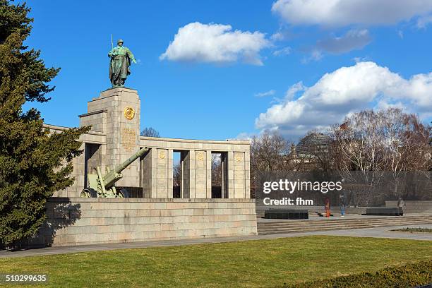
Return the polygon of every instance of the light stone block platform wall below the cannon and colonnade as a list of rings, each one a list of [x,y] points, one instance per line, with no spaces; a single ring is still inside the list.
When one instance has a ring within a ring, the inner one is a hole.
[[[254,199],[50,198],[30,246],[257,234]]]

